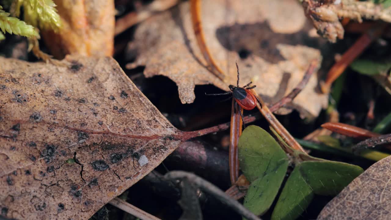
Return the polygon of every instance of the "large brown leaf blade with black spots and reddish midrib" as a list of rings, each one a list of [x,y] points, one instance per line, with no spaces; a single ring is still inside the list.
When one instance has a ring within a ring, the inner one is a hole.
[[[112,58],[62,63],[0,58],[0,209],[7,217],[87,219],[182,142]]]

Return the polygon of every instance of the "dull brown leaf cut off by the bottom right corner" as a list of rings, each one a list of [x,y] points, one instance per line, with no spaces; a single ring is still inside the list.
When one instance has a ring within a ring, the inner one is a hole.
[[[391,156],[379,160],[321,211],[318,220],[391,219]]]

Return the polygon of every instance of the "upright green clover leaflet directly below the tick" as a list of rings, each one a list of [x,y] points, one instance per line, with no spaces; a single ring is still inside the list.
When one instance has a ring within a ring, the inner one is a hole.
[[[251,182],[244,206],[255,215],[262,215],[280,189],[288,157],[269,133],[254,125],[244,129],[238,149],[240,168]]]

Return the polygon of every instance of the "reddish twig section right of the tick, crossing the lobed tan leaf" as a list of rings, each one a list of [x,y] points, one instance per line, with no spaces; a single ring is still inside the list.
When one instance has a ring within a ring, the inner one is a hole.
[[[283,97],[280,101],[274,103],[274,105],[272,105],[269,108],[270,111],[275,112],[276,110],[283,107],[287,103],[290,103],[291,101],[293,101],[293,99],[301,92],[301,90],[303,90],[305,85],[307,85],[312,74],[315,72],[317,65],[318,65],[317,60],[311,61],[310,66],[308,67],[307,71],[305,72],[303,79],[301,79],[300,83],[287,96]]]

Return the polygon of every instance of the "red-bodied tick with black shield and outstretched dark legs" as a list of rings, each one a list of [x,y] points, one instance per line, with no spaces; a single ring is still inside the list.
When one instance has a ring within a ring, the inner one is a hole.
[[[208,96],[222,96],[222,95],[229,95],[232,94],[233,98],[235,99],[235,109],[237,105],[239,105],[241,108],[246,110],[253,110],[256,106],[256,97],[254,94],[250,91],[250,89],[255,88],[256,85],[253,85],[252,87],[249,87],[251,83],[249,82],[244,87],[239,87],[239,67],[236,63],[236,69],[238,72],[238,81],[236,83],[236,87],[234,85],[229,85],[228,88],[230,88],[231,92],[225,92],[220,94],[207,94]],[[242,117],[243,125],[244,125],[244,119],[242,111],[239,109],[240,116]]]

